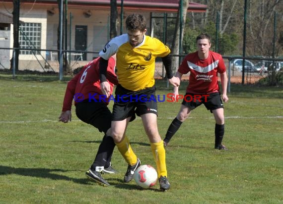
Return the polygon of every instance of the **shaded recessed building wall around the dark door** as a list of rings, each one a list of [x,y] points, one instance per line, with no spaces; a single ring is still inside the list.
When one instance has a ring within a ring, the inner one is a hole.
[[[109,10],[90,10],[91,16],[86,18],[83,15],[85,9],[68,9],[68,50],[74,51],[75,45],[75,26],[87,26],[87,51],[101,51],[109,39],[110,29],[110,11]],[[71,32],[70,32],[70,12],[71,12]],[[147,26],[149,27],[150,13],[142,13],[147,18]],[[58,11],[47,16],[47,48],[57,50],[57,27],[59,24]],[[120,35],[120,16],[118,16],[117,34]],[[123,21],[123,33],[126,33],[125,18]],[[65,28],[64,28],[65,29]],[[71,48],[70,48],[70,33],[71,33]],[[65,46],[64,46],[65,47]],[[87,60],[98,56],[98,53],[88,53]]]

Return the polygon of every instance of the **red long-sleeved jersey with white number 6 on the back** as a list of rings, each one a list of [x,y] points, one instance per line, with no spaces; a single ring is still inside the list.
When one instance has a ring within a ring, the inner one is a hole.
[[[76,74],[70,82],[68,82],[62,111],[71,110],[72,100],[74,97],[74,104],[76,104],[77,102],[89,99],[89,96],[99,100],[99,96],[103,95],[100,88],[99,60],[100,57],[87,63],[80,72]],[[106,75],[110,84],[110,95],[113,93],[114,85],[118,84],[118,79],[114,69],[115,59],[110,57]],[[103,101],[108,104],[109,98],[103,98]]]

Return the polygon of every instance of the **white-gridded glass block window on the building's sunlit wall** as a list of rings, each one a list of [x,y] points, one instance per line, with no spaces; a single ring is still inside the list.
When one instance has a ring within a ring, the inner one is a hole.
[[[41,23],[23,23],[20,25],[19,43],[21,49],[41,49]],[[39,51],[21,50],[20,54],[40,54]]]

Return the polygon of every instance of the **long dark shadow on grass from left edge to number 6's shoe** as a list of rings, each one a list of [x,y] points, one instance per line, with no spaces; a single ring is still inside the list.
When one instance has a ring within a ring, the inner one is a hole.
[[[68,176],[56,174],[56,172],[67,172],[67,170],[48,169],[48,168],[15,168],[10,166],[0,165],[0,175],[17,174],[21,176],[32,176],[32,177],[40,177],[40,178],[49,178],[53,180],[73,181],[79,184],[90,184],[88,183],[87,178],[85,179],[70,178]]]

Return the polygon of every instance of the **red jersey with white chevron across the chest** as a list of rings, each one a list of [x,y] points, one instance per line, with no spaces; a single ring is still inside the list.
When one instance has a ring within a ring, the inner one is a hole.
[[[198,51],[185,56],[178,72],[190,72],[186,92],[192,94],[210,94],[219,92],[217,73],[224,73],[226,67],[221,54],[209,51],[207,59],[200,59]]]

